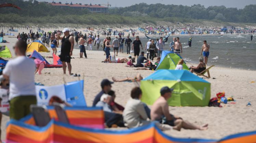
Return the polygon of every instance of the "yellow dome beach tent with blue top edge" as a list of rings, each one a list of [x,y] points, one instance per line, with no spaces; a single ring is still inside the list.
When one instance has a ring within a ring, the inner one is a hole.
[[[33,52],[36,50],[37,52],[50,52],[46,46],[43,45],[41,41],[34,41],[27,45],[27,52]]]

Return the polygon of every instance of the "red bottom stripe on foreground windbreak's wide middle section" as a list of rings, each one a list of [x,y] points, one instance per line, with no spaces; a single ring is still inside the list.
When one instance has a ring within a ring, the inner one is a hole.
[[[148,139],[145,139],[142,141],[137,141],[136,143],[153,143],[153,141],[154,141],[154,138],[151,137],[151,138],[148,138]],[[54,134],[54,142],[95,143],[93,141],[75,139],[75,138],[71,138],[71,137],[67,137],[67,136],[62,136],[59,134]],[[109,140],[105,141],[104,139],[102,139],[100,142],[110,142],[110,141]],[[122,142],[122,141],[120,141],[120,142]],[[125,142],[129,142],[129,141],[125,141]]]

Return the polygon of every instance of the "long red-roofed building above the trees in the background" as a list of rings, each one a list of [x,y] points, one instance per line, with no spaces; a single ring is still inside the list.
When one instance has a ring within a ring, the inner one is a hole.
[[[50,3],[51,5],[53,6],[61,6],[61,7],[73,7],[73,8],[76,8],[76,9],[88,9],[89,11],[91,12],[107,12],[107,9],[108,7],[105,7],[105,6],[101,6],[100,4],[95,4],[95,5],[92,5],[91,3],[90,4],[84,4],[82,5],[81,3],[79,4],[73,4],[73,3],[65,3],[65,4],[62,4],[61,2],[59,3],[56,3],[56,2],[52,2]]]

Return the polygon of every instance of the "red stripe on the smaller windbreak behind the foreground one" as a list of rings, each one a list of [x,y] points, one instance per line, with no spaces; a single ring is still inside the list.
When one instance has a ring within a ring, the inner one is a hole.
[[[70,124],[76,125],[90,125],[90,124],[104,124],[104,118],[69,118]]]

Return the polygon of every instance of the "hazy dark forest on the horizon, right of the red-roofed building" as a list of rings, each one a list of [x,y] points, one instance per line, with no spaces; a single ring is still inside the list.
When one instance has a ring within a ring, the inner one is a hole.
[[[182,17],[190,19],[221,20],[225,22],[256,22],[256,4],[246,5],[243,9],[227,8],[225,6],[209,6],[201,4],[192,6],[174,4],[146,4],[139,3],[127,7],[112,8],[111,14],[123,16],[149,16],[149,17]]]

